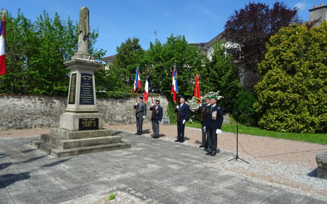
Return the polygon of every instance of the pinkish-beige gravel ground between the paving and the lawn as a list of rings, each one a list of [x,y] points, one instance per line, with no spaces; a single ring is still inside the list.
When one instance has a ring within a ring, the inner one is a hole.
[[[136,132],[136,125],[110,125],[104,128]],[[4,130],[0,131],[0,137],[22,137],[42,133],[49,133],[49,129]],[[152,134],[150,124],[143,125],[143,133],[144,136],[150,137]],[[160,136],[161,139],[175,140],[177,127],[161,125]],[[182,145],[200,145],[201,130],[185,128],[184,139]],[[238,142],[239,158],[250,164],[240,160],[230,162],[226,160],[206,165],[327,197],[327,180],[317,178],[316,170],[316,155],[327,149],[327,145],[245,134],[238,134]],[[236,152],[236,134],[219,134],[218,149],[232,152],[232,159]]]

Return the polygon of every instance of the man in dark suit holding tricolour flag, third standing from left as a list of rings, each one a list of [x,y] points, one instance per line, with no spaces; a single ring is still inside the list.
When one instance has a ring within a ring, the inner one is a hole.
[[[179,110],[177,116],[177,140],[175,142],[184,142],[185,122],[188,119],[188,105],[185,103],[185,98],[180,98],[180,105],[176,106],[175,113]]]

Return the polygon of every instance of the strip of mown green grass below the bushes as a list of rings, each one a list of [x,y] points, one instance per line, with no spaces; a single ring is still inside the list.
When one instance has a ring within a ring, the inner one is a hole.
[[[224,132],[236,133],[236,122],[231,118],[231,124],[224,123],[221,130]],[[176,123],[170,123],[171,125],[176,125]],[[200,123],[188,123],[185,126],[193,128],[201,128]],[[277,131],[268,131],[260,128],[249,127],[245,125],[238,124],[238,133],[241,134],[251,134],[264,137],[276,137],[290,140],[299,140],[304,142],[312,142],[319,144],[327,144],[327,134],[326,133],[283,133]]]

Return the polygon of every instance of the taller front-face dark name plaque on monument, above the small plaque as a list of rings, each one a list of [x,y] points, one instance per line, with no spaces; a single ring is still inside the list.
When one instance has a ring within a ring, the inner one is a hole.
[[[81,73],[80,105],[94,105],[92,74]]]

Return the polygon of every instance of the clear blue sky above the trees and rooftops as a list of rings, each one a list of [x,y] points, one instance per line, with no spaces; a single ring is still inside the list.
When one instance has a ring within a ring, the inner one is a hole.
[[[260,2],[272,5],[276,1]],[[299,15],[304,21],[309,20],[308,9],[320,6],[321,2],[284,1],[290,8],[300,8]],[[148,49],[150,41],[155,41],[154,30],[162,43],[172,33],[184,35],[189,43],[208,42],[223,31],[235,9],[244,8],[248,3],[248,0],[9,0],[6,5],[2,1],[1,8],[6,6],[14,17],[20,8],[32,21],[45,10],[51,18],[57,12],[61,19],[67,20],[69,16],[75,22],[79,18],[79,9],[86,6],[90,10],[91,29],[99,29],[95,47],[107,50],[105,56],[110,56],[116,54],[116,46],[129,37],[139,38],[142,47]]]

